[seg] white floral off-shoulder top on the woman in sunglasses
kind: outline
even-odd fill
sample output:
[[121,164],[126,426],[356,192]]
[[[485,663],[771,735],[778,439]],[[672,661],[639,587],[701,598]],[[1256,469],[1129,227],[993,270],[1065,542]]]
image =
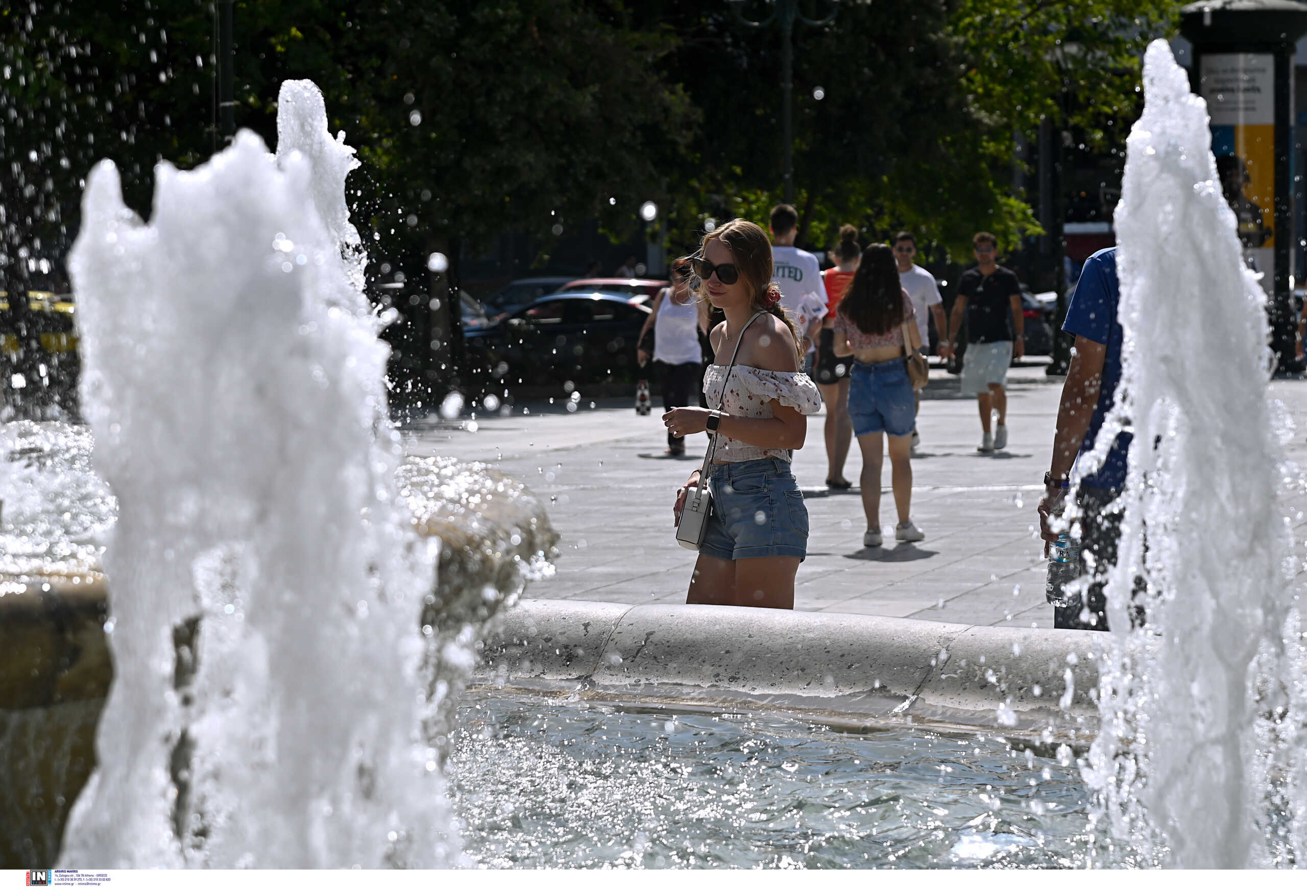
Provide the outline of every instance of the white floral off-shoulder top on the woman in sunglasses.
[[[771,401],[792,406],[805,415],[821,409],[821,392],[806,372],[780,372],[736,364],[731,370],[731,381],[723,398],[721,384],[727,379],[727,370],[728,367],[720,363],[710,363],[703,374],[703,396],[714,409],[720,400],[721,411],[750,419],[770,419],[775,415]],[[789,461],[788,449],[763,449],[725,435],[720,436],[718,449],[712,455],[714,462],[746,462],[752,459]]]

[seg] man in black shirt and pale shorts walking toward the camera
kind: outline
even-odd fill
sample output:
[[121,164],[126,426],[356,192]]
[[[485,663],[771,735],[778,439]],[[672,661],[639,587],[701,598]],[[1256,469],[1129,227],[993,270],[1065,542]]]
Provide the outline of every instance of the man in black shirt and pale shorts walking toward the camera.
[[[997,263],[999,239],[988,231],[971,238],[976,266],[962,273],[949,323],[949,350],[954,347],[962,316],[967,319],[967,351],[962,359],[962,393],[975,395],[983,432],[978,451],[992,453],[1008,445],[1008,366],[1012,355],[1026,354],[1021,281]],[[991,413],[999,425],[991,430]]]

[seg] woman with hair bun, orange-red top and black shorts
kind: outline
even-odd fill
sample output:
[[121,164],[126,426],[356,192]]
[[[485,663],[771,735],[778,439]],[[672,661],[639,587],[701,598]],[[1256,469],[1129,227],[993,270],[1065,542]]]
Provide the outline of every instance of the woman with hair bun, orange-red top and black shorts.
[[826,486],[831,490],[847,490],[853,486],[844,478],[844,461],[848,459],[848,445],[853,440],[853,421],[848,418],[848,371],[853,366],[851,357],[835,357],[835,311],[839,300],[853,280],[861,257],[857,247],[857,229],[844,225],[839,229],[839,246],[830,252],[834,268],[821,273],[826,283],[826,316],[822,317],[821,338],[817,345],[817,363],[813,364],[813,378],[817,389],[826,404]]

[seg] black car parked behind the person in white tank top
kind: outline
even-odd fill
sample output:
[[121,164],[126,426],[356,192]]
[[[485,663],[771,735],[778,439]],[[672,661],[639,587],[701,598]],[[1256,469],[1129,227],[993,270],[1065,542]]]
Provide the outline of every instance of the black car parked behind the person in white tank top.
[[625,293],[546,295],[484,329],[469,355],[505,384],[634,379],[635,341],[650,310]]

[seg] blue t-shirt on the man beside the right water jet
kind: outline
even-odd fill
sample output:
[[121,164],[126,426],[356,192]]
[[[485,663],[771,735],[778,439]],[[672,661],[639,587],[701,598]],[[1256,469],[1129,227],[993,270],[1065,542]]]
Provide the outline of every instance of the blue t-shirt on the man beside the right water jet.
[[[1063,329],[1074,336],[1107,346],[1103,355],[1103,383],[1098,389],[1098,404],[1094,405],[1094,418],[1089,422],[1081,455],[1094,448],[1103,417],[1112,409],[1112,397],[1121,380],[1121,325],[1116,320],[1116,302],[1121,291],[1116,282],[1116,247],[1099,250],[1085,261],[1085,268],[1076,282],[1076,291],[1067,306],[1067,320]],[[1125,455],[1131,447],[1131,434],[1123,431],[1112,443],[1112,449],[1103,465],[1084,478],[1085,486],[1099,490],[1120,490],[1125,486]]]

